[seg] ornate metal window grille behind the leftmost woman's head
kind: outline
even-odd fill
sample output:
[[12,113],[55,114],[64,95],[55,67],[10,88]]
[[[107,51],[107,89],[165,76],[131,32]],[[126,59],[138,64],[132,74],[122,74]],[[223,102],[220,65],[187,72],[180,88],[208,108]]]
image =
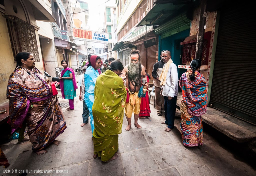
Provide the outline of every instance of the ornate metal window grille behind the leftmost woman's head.
[[14,60],[19,52],[30,52],[35,61],[40,62],[35,27],[16,16],[6,15],[5,18]]

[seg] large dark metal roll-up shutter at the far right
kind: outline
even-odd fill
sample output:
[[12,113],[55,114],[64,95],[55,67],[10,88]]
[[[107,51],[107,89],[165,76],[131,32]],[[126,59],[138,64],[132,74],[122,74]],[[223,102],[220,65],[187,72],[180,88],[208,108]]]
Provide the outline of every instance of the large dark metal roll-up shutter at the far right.
[[210,103],[256,125],[256,18],[241,4],[221,9]]

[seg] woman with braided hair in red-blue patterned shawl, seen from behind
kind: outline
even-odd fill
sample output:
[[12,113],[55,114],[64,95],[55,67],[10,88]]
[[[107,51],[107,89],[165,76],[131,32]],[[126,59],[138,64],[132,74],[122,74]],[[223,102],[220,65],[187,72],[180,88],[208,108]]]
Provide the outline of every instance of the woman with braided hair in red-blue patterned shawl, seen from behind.
[[203,126],[201,115],[207,111],[206,81],[199,73],[201,61],[194,59],[190,63],[191,70],[180,77],[179,86],[182,89],[181,130],[182,142],[185,146],[203,145]]

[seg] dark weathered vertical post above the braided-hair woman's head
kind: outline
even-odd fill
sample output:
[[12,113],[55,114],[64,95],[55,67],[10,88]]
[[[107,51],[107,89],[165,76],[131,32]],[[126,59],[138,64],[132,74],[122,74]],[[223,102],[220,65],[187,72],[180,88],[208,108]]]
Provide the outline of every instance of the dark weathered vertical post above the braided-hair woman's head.
[[195,59],[200,59],[200,60],[202,56],[203,40],[204,40],[204,34],[205,34],[204,26],[206,21],[206,5],[207,5],[207,0],[201,0],[198,33],[197,33],[197,41],[196,41],[196,56],[195,56]]

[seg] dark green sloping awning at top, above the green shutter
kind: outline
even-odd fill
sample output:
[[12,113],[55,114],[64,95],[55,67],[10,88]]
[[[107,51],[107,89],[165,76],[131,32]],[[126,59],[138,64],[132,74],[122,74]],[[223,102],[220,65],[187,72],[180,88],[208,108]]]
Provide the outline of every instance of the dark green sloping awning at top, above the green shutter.
[[152,26],[164,24],[169,19],[193,8],[195,0],[157,0],[152,9],[137,26]]

